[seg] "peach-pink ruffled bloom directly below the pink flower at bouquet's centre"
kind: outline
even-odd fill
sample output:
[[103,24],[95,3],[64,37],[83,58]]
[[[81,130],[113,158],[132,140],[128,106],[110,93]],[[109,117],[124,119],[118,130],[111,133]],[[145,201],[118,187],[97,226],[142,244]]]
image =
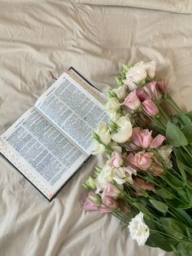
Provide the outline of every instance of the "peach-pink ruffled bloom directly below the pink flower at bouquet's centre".
[[135,155],[133,153],[129,154],[127,160],[133,165],[137,166],[141,170],[147,170],[151,167],[151,157],[153,157],[153,153],[151,152],[137,152]]

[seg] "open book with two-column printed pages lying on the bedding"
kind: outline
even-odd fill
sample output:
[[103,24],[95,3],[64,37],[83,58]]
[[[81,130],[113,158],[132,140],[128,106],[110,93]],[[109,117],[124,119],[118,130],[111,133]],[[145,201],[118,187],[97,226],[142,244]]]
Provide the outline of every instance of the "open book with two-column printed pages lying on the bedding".
[[70,68],[1,135],[0,152],[51,201],[90,156],[98,121],[102,94]]

